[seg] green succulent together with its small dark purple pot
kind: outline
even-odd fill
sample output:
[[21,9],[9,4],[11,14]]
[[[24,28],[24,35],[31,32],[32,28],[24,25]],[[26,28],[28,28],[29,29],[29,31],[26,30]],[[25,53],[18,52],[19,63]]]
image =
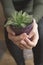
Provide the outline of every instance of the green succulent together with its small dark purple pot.
[[26,12],[15,11],[10,18],[8,18],[4,27],[10,26],[16,35],[21,33],[29,34],[32,30],[32,15],[28,15]]

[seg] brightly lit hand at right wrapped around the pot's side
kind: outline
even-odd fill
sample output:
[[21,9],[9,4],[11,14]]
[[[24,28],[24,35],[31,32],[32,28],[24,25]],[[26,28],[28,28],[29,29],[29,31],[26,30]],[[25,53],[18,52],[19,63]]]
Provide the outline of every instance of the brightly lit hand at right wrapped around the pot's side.
[[[32,38],[32,40],[30,40],[29,38]],[[33,29],[30,32],[29,37],[25,38],[25,40],[22,40],[21,43],[24,45],[26,49],[31,49],[37,45],[38,40],[39,40],[38,24],[36,23],[36,20],[33,19]]]

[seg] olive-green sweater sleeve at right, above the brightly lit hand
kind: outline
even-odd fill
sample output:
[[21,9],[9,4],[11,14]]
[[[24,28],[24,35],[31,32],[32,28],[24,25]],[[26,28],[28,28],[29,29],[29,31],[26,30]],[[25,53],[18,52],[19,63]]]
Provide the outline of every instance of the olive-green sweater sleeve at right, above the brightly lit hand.
[[37,22],[43,17],[43,0],[34,0],[33,17]]

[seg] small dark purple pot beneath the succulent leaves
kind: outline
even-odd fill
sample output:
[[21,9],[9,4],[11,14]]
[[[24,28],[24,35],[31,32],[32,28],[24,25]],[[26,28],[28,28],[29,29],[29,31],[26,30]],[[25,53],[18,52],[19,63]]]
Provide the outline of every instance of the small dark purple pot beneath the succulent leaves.
[[32,23],[31,23],[30,25],[26,26],[25,28],[18,28],[18,27],[14,27],[14,26],[12,26],[12,25],[11,25],[10,27],[11,27],[11,29],[15,32],[16,35],[20,35],[20,34],[22,34],[22,33],[27,33],[27,34],[29,34],[30,31],[31,31],[32,28],[33,28],[33,25],[32,25]]

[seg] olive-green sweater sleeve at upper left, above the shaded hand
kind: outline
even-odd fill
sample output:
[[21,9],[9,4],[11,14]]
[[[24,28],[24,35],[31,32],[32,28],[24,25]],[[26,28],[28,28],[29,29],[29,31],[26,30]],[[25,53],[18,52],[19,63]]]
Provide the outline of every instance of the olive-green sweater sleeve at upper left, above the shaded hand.
[[2,0],[2,4],[5,11],[5,16],[9,17],[15,11],[12,0]]

